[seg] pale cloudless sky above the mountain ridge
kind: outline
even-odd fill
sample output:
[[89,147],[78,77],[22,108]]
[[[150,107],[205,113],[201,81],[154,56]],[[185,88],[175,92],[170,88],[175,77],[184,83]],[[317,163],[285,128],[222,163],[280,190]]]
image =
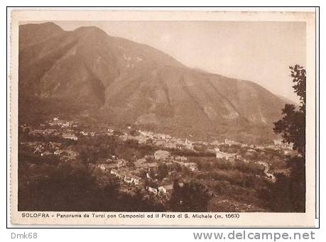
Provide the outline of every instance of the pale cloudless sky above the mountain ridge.
[[218,21],[55,22],[66,31],[97,26],[163,50],[189,67],[251,80],[292,101],[289,65],[305,67],[305,23]]

